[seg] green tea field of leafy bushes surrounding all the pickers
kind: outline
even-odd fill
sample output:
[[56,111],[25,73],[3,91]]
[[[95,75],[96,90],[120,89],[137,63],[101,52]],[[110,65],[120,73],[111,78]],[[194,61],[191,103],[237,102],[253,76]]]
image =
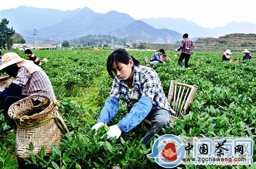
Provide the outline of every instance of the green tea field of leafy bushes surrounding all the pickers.
[[[6,51],[3,51],[4,54]],[[24,51],[14,51],[28,59]],[[106,60],[110,50],[35,50],[43,62],[42,69],[49,76],[56,98],[60,100],[59,112],[70,133],[61,141],[61,148],[53,146],[52,155],[43,153],[32,158],[40,168],[48,169],[112,169],[119,164],[123,169],[158,169],[154,159],[147,157],[151,149],[141,144],[147,129],[140,126],[119,139],[101,139],[104,128],[94,136],[91,127],[108,98],[112,79],[107,73]],[[145,65],[144,56],[154,51],[129,50]],[[194,52],[189,60],[191,70],[181,68],[174,51],[166,51],[171,61],[157,64],[158,73],[167,96],[171,80],[197,85],[190,111],[174,124],[163,129],[163,134],[188,137],[250,137],[254,141],[254,165],[180,165],[182,169],[249,169],[256,168],[256,60],[238,64],[222,63],[219,52]],[[252,56],[256,54],[252,53]],[[242,58],[243,53],[231,57]],[[199,64],[196,62],[200,60]],[[108,124],[115,125],[126,114],[121,100],[117,116]],[[7,128],[0,116],[0,130]],[[17,169],[15,132],[0,137],[0,168]],[[154,142],[152,141],[152,144]],[[31,147],[33,148],[33,147]]]

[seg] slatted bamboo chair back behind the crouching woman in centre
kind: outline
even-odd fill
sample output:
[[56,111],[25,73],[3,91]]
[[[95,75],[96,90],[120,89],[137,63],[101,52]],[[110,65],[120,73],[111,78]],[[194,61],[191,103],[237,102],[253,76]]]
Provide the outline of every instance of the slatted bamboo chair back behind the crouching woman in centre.
[[[170,115],[170,118],[175,121],[175,119],[184,116],[189,112],[189,107],[191,106],[195,93],[197,91],[198,86],[196,85],[188,85],[184,83],[179,83],[175,80],[170,82],[170,88],[168,93],[168,103],[171,108],[175,111],[175,115]],[[144,119],[142,123],[146,123],[151,125],[151,121],[148,119]],[[171,123],[171,121],[170,121]],[[141,126],[145,124],[141,124]]]

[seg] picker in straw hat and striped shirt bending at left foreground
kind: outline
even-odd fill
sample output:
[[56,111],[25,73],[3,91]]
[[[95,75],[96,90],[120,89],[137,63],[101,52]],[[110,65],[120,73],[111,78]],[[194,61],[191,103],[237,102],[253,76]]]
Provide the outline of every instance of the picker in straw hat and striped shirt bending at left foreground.
[[[16,128],[15,122],[7,115],[9,107],[16,101],[34,94],[45,94],[56,100],[52,84],[46,73],[33,63],[21,58],[14,52],[8,52],[2,57],[0,70],[16,78],[8,88],[0,92],[1,113],[4,114],[10,131]],[[34,98],[33,104],[38,105],[42,98]]]

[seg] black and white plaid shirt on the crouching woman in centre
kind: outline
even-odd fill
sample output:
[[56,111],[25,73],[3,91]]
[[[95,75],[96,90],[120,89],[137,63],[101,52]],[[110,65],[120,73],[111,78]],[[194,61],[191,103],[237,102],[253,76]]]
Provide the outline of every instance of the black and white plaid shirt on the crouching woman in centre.
[[[165,109],[171,112],[168,100],[163,92],[161,81],[154,69],[146,66],[134,66],[133,86],[136,88],[138,100],[141,96],[149,97],[152,100],[152,109]],[[127,103],[128,112],[132,108],[132,102],[128,96],[127,81],[115,76],[110,97],[120,98],[123,95]]]

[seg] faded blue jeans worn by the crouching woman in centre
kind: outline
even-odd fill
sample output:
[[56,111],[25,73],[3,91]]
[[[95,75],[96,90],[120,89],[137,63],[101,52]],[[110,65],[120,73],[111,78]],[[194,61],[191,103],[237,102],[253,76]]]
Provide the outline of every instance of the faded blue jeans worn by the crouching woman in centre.
[[162,128],[169,125],[169,112],[164,109],[152,109],[146,119],[151,120],[152,125],[145,134],[142,143],[149,148],[151,140],[155,138],[155,134],[161,133]]

